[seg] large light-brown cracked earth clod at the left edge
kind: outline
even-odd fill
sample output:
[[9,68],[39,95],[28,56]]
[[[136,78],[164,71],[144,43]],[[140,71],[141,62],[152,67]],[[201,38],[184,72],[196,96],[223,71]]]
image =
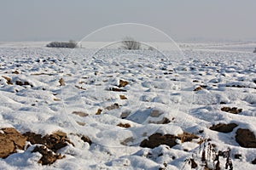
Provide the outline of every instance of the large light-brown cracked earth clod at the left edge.
[[16,152],[16,150],[24,150],[26,137],[15,130],[15,128],[2,128],[0,133],[0,158]]

